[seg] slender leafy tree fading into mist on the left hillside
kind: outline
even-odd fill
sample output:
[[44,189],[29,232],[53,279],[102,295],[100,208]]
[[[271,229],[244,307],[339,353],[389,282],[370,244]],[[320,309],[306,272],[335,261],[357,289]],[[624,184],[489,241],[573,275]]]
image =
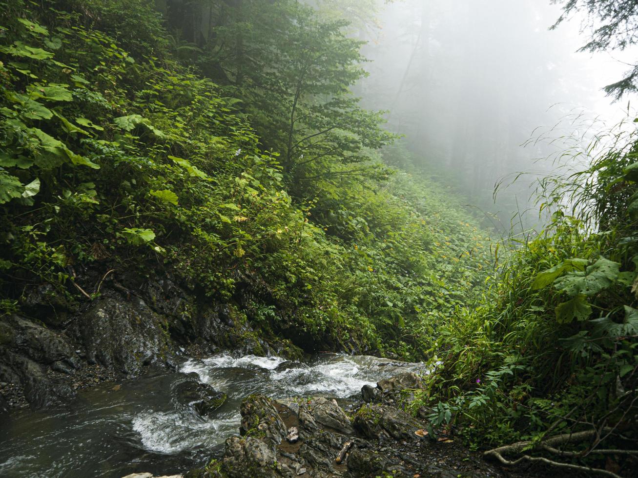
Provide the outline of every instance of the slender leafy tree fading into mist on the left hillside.
[[210,4],[215,20],[198,66],[241,99],[263,147],[281,154],[293,194],[316,180],[373,174],[371,150],[392,135],[350,91],[366,72],[348,22],[292,0]]

